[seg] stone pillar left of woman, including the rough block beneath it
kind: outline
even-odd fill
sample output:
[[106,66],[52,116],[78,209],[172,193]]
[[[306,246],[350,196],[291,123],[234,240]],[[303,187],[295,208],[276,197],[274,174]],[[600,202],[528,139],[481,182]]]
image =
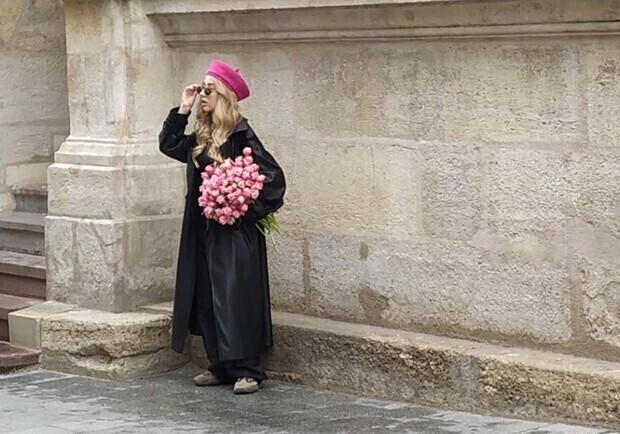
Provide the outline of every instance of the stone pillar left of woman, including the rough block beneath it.
[[47,295],[72,308],[43,321],[43,363],[165,370],[184,359],[167,349],[169,315],[145,306],[172,299],[184,197],[183,166],[157,144],[170,55],[140,1],[64,7],[71,133],[48,172]]

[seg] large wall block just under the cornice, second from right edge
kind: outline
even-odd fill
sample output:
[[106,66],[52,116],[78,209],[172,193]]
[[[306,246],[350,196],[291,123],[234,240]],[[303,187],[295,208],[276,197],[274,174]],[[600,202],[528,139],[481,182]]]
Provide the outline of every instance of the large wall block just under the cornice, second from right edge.
[[443,140],[557,146],[583,141],[576,46],[521,39],[434,48],[434,89],[440,92],[433,111],[443,123]]

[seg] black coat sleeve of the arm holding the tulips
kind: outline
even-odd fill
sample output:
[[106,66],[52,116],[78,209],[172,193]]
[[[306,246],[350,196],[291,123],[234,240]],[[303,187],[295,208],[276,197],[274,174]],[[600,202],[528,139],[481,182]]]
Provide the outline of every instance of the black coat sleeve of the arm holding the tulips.
[[250,206],[245,215],[245,220],[256,222],[277,211],[284,204],[286,180],[282,168],[251,129],[248,130],[247,138],[247,146],[252,148],[254,162],[258,164],[260,173],[265,175],[265,182],[263,183],[263,190],[260,196]]

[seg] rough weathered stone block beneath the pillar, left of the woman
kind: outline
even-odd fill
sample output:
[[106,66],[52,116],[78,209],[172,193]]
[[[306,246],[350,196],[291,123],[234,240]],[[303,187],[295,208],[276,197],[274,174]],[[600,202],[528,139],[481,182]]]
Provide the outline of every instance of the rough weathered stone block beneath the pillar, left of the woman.
[[189,361],[189,349],[170,349],[170,321],[167,314],[87,309],[48,316],[41,324],[41,366],[107,379],[178,369]]

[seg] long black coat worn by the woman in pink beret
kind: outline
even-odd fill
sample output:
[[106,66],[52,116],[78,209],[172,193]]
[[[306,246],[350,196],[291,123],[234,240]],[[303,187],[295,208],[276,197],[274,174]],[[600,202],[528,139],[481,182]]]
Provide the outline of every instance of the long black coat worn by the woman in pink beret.
[[[183,229],[179,249],[174,312],[172,319],[172,349],[183,352],[190,324],[192,302],[196,285],[198,254],[197,231],[204,230],[202,208],[198,206],[200,170],[192,161],[196,135],[185,135],[188,115],[170,111],[159,134],[159,149],[175,160],[187,163],[187,195],[183,215]],[[240,222],[223,226],[206,221],[205,255],[213,294],[213,313],[217,330],[219,360],[255,358],[271,346],[271,309],[265,237],[256,222],[276,211],[283,204],[286,189],[284,174],[275,159],[265,150],[245,118],[242,118],[222,144],[225,157],[242,154],[252,148],[254,162],[265,175],[263,190]],[[204,263],[204,262],[203,262]]]

